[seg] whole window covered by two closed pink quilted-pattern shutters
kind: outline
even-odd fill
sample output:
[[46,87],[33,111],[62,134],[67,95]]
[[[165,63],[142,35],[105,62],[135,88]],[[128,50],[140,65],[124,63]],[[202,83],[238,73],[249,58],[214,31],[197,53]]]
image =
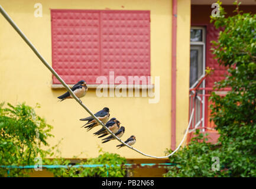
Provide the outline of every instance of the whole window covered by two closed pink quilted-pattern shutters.
[[53,69],[68,84],[150,76],[150,11],[52,9],[51,35]]

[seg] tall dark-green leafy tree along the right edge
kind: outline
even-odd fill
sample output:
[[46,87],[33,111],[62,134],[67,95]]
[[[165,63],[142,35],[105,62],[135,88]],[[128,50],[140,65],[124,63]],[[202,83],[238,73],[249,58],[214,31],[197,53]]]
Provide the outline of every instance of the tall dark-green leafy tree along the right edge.
[[213,19],[215,27],[225,27],[213,43],[213,54],[228,67],[226,79],[216,83],[216,89],[232,90],[225,97],[212,94],[212,120],[226,152],[222,161],[232,170],[232,176],[255,177],[256,15],[242,14],[239,5],[235,11],[234,17]]

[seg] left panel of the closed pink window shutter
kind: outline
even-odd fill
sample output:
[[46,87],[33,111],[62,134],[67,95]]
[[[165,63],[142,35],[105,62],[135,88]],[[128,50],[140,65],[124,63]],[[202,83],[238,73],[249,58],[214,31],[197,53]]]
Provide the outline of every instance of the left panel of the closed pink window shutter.
[[[99,75],[99,12],[51,10],[53,69],[66,83]],[[53,83],[60,83],[53,77]]]

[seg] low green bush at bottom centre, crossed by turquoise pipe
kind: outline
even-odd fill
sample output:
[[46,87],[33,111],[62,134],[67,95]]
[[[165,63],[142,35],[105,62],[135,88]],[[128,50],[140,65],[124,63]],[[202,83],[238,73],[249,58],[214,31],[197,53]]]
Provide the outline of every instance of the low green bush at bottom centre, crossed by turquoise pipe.
[[[86,161],[80,159],[79,163],[71,164],[71,161],[63,158],[55,158],[53,160],[48,159],[47,164],[52,165],[103,165],[102,167],[79,167],[79,168],[57,168],[49,169],[53,172],[54,177],[124,177],[125,168],[122,166],[126,163],[126,159],[120,157],[118,154],[110,154],[109,152],[103,152],[96,158],[89,158]],[[107,167],[106,165],[109,165]],[[121,166],[118,166],[121,165]]]

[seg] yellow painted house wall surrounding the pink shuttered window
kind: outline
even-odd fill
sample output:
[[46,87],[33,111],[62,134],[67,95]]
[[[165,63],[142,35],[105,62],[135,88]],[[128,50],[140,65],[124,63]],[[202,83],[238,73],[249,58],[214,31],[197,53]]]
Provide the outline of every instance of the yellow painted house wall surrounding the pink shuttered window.
[[[160,76],[160,101],[148,103],[148,97],[96,97],[95,90],[89,90],[82,98],[92,112],[108,106],[125,126],[122,139],[136,136],[135,148],[151,155],[162,156],[171,145],[171,0],[95,0],[95,1],[40,1],[43,18],[34,17],[34,4],[38,1],[4,1],[0,4],[16,22],[18,27],[34,44],[41,55],[51,64],[50,9],[126,9],[151,11],[151,76]],[[178,2],[177,38],[177,145],[183,137],[188,122],[189,100],[189,27],[190,1]],[[124,6],[124,8],[122,7]],[[34,106],[38,115],[54,126],[55,138],[51,145],[61,138],[60,149],[64,158],[72,158],[85,152],[81,158],[97,157],[98,145],[103,151],[118,153],[126,158],[144,158],[128,148],[117,150],[117,141],[101,144],[101,140],[80,128],[80,118],[88,113],[74,100],[57,102],[57,96],[65,90],[51,89],[51,73],[35,56],[11,25],[0,16],[0,101],[17,104],[26,102]],[[81,78],[82,79],[82,78]]]

